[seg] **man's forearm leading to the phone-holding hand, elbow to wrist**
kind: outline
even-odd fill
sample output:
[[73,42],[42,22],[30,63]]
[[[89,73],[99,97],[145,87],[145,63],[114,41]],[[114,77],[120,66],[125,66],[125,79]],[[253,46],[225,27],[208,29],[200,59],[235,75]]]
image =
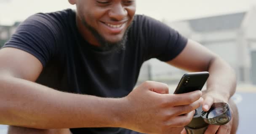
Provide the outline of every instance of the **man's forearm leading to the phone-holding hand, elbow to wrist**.
[[0,78],[0,124],[37,129],[119,127],[120,99],[64,93]]

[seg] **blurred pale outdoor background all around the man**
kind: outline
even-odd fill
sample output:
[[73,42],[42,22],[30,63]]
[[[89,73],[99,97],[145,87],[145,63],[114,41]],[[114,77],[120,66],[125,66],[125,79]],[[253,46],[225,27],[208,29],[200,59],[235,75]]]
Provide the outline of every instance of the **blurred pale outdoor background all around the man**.
[[[28,16],[66,8],[75,6],[68,0],[0,0],[0,47]],[[256,119],[256,0],[137,0],[136,13],[156,18],[200,42],[235,69],[237,93],[233,100],[240,112],[237,134],[251,133]],[[138,84],[165,82],[173,93],[184,73],[150,59],[141,68]],[[6,134],[6,126],[0,125],[0,134]]]

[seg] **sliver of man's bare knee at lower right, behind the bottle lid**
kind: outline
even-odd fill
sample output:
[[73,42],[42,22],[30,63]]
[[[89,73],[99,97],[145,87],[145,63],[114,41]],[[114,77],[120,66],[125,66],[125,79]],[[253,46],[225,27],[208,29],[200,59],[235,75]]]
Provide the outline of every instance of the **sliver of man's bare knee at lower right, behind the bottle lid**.
[[236,106],[235,102],[232,99],[229,100],[229,106],[233,111],[233,114],[232,114],[233,123],[232,123],[231,134],[236,134],[237,127],[238,127],[238,124],[239,124],[238,109],[237,109],[237,106]]

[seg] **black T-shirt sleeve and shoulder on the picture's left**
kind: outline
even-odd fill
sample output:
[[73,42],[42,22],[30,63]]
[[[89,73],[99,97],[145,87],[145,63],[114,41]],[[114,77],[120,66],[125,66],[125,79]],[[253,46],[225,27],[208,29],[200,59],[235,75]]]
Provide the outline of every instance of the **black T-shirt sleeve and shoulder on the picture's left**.
[[[75,14],[75,13],[73,13]],[[24,50],[39,59],[43,66],[59,53],[68,31],[72,10],[37,13],[23,21],[3,47]],[[74,22],[74,20],[72,21]]]

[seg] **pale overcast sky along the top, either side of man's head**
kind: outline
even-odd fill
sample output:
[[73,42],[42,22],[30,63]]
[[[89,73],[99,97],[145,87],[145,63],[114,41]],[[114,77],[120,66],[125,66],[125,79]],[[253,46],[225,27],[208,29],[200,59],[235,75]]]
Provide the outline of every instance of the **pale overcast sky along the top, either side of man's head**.
[[[249,10],[256,0],[136,0],[137,14],[180,21]],[[0,25],[12,25],[38,12],[75,9],[68,0],[0,0]]]

